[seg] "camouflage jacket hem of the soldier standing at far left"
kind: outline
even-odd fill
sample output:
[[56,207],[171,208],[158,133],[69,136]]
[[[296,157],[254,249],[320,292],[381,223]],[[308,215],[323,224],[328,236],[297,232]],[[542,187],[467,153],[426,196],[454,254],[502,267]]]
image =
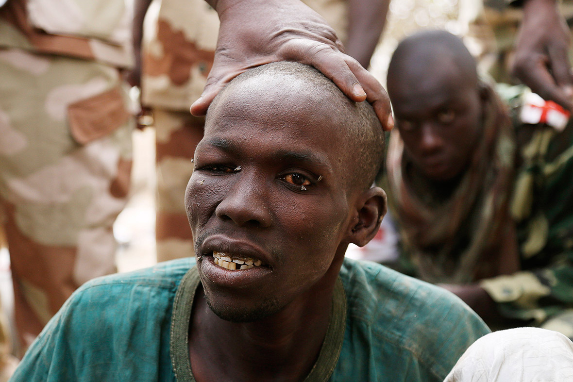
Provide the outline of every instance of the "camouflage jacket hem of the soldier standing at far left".
[[9,0],[0,8],[0,49],[133,64],[127,0]]

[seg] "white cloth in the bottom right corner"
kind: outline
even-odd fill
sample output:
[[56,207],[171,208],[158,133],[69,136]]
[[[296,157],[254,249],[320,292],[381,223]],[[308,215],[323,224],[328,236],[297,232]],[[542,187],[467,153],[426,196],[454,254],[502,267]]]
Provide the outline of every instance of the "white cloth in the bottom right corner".
[[573,342],[561,333],[517,328],[474,342],[444,382],[573,381]]

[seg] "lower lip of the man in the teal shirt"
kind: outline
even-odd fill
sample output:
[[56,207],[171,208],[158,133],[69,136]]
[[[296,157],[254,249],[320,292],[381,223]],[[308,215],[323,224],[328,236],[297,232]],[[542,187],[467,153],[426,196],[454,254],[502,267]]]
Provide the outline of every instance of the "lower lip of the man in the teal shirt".
[[255,266],[249,269],[229,270],[216,265],[213,256],[203,256],[200,265],[208,281],[229,288],[244,288],[269,275],[272,271],[266,266]]

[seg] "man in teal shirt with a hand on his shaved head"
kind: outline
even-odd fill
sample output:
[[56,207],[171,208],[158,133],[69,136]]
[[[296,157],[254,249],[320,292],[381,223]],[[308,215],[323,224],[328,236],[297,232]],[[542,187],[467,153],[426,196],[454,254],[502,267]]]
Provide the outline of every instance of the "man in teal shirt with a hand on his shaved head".
[[484,323],[443,289],[344,258],[386,212],[371,186],[383,144],[372,107],[310,66],[241,74],[189,164],[195,257],[87,283],[15,380],[442,381]]

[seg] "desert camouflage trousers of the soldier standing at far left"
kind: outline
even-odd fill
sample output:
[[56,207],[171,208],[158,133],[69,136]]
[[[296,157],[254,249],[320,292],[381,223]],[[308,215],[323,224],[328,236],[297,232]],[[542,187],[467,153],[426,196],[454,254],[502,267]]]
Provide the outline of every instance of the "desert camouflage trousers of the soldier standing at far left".
[[88,279],[115,271],[133,121],[115,68],[0,50],[0,206],[23,348]]

